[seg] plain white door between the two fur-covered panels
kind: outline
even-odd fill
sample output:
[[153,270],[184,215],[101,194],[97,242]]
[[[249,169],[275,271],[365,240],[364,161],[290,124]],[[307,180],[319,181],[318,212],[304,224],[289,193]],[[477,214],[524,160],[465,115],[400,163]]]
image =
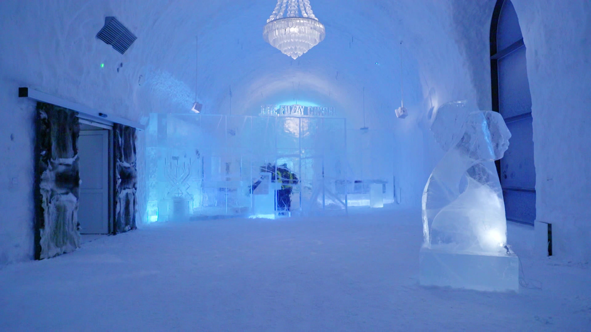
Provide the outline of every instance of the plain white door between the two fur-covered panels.
[[80,131],[80,234],[109,233],[109,131]]

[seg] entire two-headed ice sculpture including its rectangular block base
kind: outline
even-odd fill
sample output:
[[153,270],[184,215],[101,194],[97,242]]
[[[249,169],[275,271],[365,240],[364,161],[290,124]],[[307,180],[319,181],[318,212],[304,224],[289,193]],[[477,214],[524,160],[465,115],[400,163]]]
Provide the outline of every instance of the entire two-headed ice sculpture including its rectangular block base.
[[506,245],[505,204],[493,162],[511,133],[497,112],[441,105],[431,131],[447,151],[423,191],[420,282],[486,291],[518,290],[518,261]]

